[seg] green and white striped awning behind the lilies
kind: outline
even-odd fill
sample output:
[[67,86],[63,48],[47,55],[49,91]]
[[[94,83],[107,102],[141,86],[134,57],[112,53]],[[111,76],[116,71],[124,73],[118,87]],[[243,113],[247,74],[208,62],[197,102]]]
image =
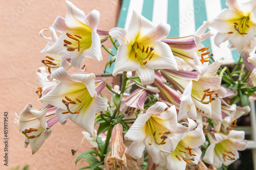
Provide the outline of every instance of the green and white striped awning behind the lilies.
[[[135,10],[156,25],[168,23],[171,29],[167,38],[184,37],[193,35],[203,21],[214,19],[222,9],[228,8],[225,4],[226,0],[123,0],[117,27],[127,29]],[[214,59],[223,64],[239,60],[237,50],[231,51],[227,41],[218,47],[214,44],[214,37],[210,37],[203,44],[210,46]],[[116,54],[115,48],[112,50]],[[112,72],[113,68],[114,65],[106,71]]]

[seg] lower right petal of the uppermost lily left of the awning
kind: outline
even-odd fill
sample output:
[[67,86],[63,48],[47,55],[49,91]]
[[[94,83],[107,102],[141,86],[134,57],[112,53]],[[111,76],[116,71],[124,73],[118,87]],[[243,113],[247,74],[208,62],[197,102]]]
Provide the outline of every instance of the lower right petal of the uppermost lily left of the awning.
[[84,50],[82,55],[83,57],[96,59],[98,61],[102,60],[100,37],[95,31],[92,31],[91,47],[88,50]]

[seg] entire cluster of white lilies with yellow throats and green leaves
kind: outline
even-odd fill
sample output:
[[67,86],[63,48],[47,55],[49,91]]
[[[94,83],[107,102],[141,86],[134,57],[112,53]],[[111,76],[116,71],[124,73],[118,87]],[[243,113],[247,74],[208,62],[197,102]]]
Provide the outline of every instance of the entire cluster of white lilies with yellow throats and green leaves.
[[[93,143],[77,158],[89,164],[83,168],[140,169],[144,161],[147,169],[190,169],[202,161],[220,168],[239,159],[247,141],[243,131],[236,131],[237,122],[256,99],[256,56],[249,55],[256,33],[255,1],[227,0],[229,9],[203,22],[194,35],[179,38],[166,38],[167,23],[154,25],[136,11],[127,30],[98,29],[98,11],[86,15],[66,4],[66,18],[58,16],[49,27],[51,37],[44,35],[47,29],[39,32],[47,40],[41,62],[48,72],[45,67],[36,71],[43,106],[37,110],[29,103],[15,119],[32,154],[50,136],[51,126],[70,119]],[[229,40],[242,51],[233,69],[214,61],[201,43],[214,35],[206,32],[208,26],[218,31],[216,45]],[[108,39],[116,55],[103,45]],[[122,72],[121,87],[84,72],[86,57],[102,60],[101,47],[113,56],[105,68],[114,63],[112,75]],[[71,67],[80,72],[69,73]],[[111,99],[104,98],[104,88]]]

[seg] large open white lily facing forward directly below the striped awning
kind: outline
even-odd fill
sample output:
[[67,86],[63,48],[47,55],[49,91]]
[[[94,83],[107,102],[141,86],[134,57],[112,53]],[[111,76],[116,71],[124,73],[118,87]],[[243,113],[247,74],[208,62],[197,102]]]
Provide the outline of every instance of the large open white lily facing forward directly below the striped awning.
[[119,71],[137,71],[142,84],[154,82],[154,69],[176,69],[177,63],[169,46],[161,42],[170,31],[170,26],[160,23],[158,26],[133,11],[129,27],[126,30],[113,28],[110,35],[120,43],[113,76]]

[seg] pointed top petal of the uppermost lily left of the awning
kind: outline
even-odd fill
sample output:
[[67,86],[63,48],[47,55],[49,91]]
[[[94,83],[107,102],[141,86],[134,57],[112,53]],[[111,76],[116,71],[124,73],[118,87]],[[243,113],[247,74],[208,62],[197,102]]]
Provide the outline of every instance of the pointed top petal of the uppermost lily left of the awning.
[[[84,24],[89,26],[86,14],[71,2],[66,1],[67,15],[65,19],[66,26],[71,29],[83,30]],[[95,30],[96,31],[96,30]]]

